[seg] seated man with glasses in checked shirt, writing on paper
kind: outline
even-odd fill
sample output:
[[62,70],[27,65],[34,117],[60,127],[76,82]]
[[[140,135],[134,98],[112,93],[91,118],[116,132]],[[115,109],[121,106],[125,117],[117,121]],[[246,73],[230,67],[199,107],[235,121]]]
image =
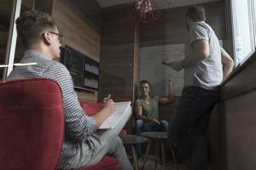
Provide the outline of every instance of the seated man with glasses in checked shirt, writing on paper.
[[102,160],[105,154],[116,157],[121,169],[132,169],[119,131],[130,115],[125,115],[113,129],[96,131],[114,111],[112,99],[103,103],[102,111],[86,116],[73,89],[73,80],[67,68],[55,61],[60,59],[62,36],[49,14],[27,11],[16,20],[18,37],[26,48],[20,63],[37,63],[15,67],[9,79],[49,78],[58,82],[63,96],[65,139],[59,168],[73,169],[90,166]]

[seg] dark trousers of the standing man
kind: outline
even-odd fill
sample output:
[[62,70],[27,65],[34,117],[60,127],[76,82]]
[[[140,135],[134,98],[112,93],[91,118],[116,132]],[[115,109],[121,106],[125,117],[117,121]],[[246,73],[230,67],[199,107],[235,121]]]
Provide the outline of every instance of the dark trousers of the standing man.
[[207,170],[209,116],[218,92],[191,86],[183,90],[168,129],[168,141],[189,160],[191,170]]

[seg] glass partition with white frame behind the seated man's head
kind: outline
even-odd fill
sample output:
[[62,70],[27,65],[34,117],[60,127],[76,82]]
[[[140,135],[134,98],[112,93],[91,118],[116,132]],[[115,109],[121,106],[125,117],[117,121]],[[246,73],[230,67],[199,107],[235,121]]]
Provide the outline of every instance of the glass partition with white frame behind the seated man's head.
[[14,63],[20,62],[24,48],[17,40],[15,20],[33,8],[34,0],[1,0],[0,5],[0,80],[8,77]]

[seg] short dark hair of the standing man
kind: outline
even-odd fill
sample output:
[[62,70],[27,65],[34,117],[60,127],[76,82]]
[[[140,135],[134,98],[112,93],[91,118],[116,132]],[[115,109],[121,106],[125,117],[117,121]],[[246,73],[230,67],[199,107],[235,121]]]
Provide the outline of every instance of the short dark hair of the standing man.
[[194,22],[206,20],[205,8],[201,5],[193,5],[189,7],[186,12],[186,18],[189,18]]

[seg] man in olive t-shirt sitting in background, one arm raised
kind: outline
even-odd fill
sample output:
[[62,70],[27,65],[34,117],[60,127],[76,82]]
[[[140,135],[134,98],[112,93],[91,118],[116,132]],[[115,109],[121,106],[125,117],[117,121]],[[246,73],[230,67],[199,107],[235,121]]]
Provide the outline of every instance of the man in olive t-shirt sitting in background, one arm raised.
[[[137,116],[135,134],[142,132],[166,132],[169,123],[166,120],[159,120],[158,105],[170,103],[173,100],[172,81],[166,81],[168,92],[166,96],[151,97],[150,83],[146,80],[140,82],[141,96],[136,100],[135,112]],[[142,154],[141,144],[137,144],[137,155]]]

